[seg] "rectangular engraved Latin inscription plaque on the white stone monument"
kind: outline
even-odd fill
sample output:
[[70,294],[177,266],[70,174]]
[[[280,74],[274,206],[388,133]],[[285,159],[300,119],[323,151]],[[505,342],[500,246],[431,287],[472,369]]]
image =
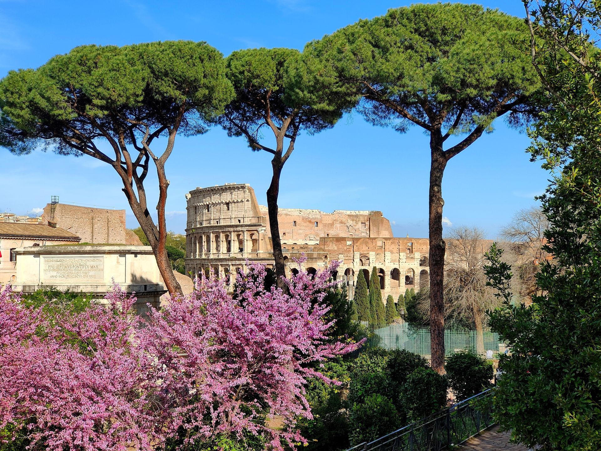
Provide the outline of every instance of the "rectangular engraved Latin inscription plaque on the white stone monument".
[[104,280],[104,257],[102,256],[44,256],[41,263],[41,279],[44,281]]

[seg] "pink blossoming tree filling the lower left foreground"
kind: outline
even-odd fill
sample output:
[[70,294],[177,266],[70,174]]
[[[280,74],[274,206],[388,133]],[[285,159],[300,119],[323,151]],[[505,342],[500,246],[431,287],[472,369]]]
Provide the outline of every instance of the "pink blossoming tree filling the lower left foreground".
[[[334,382],[316,368],[358,346],[326,336],[332,322],[321,301],[336,267],[300,272],[289,293],[265,290],[261,265],[239,274],[234,296],[210,277],[143,325],[130,312],[135,298],[118,286],[108,308],[52,322],[5,289],[0,431],[57,451],[154,450],[169,440],[188,449],[248,435],[270,449],[303,443],[293,425],[311,418],[307,379]],[[274,416],[283,428],[266,426]]]

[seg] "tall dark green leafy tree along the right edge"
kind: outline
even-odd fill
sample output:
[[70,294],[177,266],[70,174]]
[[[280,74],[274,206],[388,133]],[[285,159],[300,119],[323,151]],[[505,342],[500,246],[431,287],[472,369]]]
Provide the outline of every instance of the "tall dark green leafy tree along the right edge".
[[532,127],[529,150],[554,173],[542,197],[553,260],[540,265],[532,305],[512,305],[511,268],[498,247],[489,252],[490,283],[504,300],[490,323],[511,349],[499,362],[495,411],[526,446],[599,449],[601,11],[591,1],[532,6],[532,58],[552,108]]

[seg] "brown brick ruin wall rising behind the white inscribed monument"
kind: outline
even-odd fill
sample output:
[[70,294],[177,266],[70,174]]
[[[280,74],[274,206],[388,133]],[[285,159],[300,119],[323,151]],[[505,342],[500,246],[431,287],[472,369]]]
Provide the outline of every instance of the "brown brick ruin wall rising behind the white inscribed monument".
[[126,228],[125,210],[47,204],[41,222],[69,230],[84,243],[142,245],[138,236]]

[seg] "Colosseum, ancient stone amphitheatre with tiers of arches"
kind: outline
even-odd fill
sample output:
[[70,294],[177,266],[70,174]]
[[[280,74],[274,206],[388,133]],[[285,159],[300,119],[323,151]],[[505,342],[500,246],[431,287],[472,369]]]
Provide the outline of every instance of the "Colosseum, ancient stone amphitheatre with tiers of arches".
[[[246,183],[196,188],[186,194],[186,274],[212,268],[232,287],[246,260],[273,267],[267,207],[257,203]],[[294,258],[305,254],[304,268],[314,273],[330,260],[341,262],[334,275],[353,296],[359,271],[369,282],[376,266],[382,295],[395,298],[408,288],[429,284],[428,239],[394,238],[379,211],[279,209],[279,232],[288,275],[298,271]]]

